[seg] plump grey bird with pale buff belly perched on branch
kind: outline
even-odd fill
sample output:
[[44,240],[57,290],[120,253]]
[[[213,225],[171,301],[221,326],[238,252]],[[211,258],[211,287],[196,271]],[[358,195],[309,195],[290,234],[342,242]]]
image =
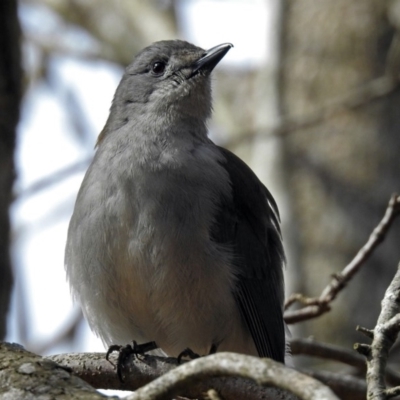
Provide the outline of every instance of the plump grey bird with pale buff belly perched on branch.
[[277,205],[208,138],[210,73],[231,47],[156,42],[116,90],[65,254],[72,292],[107,345],[284,361]]

